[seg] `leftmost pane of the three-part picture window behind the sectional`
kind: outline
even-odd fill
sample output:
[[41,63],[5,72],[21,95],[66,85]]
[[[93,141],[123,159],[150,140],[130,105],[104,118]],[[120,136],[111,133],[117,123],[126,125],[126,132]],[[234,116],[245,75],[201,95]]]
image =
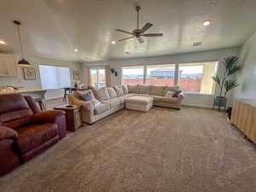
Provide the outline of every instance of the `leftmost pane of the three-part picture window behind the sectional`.
[[143,84],[144,67],[123,67],[123,84]]

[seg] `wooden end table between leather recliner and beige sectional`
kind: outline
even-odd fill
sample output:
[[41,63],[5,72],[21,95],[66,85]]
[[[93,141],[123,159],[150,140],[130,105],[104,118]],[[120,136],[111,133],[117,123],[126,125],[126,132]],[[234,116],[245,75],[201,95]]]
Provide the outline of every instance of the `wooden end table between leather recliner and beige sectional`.
[[68,106],[68,105],[61,105],[56,106],[55,110],[62,110],[66,112],[66,124],[67,124],[67,131],[76,131],[83,125],[82,118],[81,118],[81,107],[77,105]]

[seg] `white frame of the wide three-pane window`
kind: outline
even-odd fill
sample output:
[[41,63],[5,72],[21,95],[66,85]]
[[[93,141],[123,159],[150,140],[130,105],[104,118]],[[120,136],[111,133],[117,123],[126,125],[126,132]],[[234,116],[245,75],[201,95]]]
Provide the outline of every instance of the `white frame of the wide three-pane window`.
[[[185,62],[175,62],[175,63],[150,63],[150,64],[143,64],[143,65],[122,65],[121,66],[121,83],[123,84],[123,67],[143,67],[143,84],[147,84],[147,67],[148,66],[161,66],[161,65],[174,65],[175,67],[175,72],[174,72],[174,78],[173,78],[173,84],[170,84],[170,86],[177,86],[178,82],[178,70],[181,64],[195,64],[196,63],[207,63],[207,62],[216,62],[216,69],[215,69],[215,74],[218,74],[219,72],[219,61],[218,60],[208,60],[208,61],[185,61]],[[205,73],[205,69],[203,69],[203,73]],[[213,81],[212,84],[212,94],[207,94],[207,93],[200,93],[200,92],[190,92],[190,91],[183,91],[186,94],[191,94],[191,95],[206,95],[206,96],[214,96],[216,92],[216,83]]]

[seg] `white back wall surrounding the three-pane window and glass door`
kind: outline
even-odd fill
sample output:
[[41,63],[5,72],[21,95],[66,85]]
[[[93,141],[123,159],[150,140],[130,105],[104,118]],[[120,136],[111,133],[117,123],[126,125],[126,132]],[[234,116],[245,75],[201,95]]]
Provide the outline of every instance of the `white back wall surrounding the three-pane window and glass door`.
[[[84,63],[83,73],[85,74],[88,67],[104,66],[109,65],[110,68],[115,68],[118,71],[118,77],[111,74],[110,83],[111,85],[121,84],[121,69],[123,66],[132,65],[150,65],[150,64],[172,64],[172,63],[187,63],[187,62],[201,62],[201,61],[222,61],[224,57],[228,55],[238,55],[240,48],[230,49],[216,49],[211,51],[203,51],[190,54],[178,54],[178,55],[163,55],[154,57],[145,57],[137,59],[125,59],[125,60],[114,60],[114,61],[98,61]],[[222,73],[223,67],[219,65],[218,73]],[[84,84],[87,84],[88,74],[84,75]],[[229,105],[232,102],[232,94],[230,93]],[[198,106],[205,108],[212,108],[214,96],[212,95],[200,95],[200,94],[185,94],[184,104],[190,106]]]

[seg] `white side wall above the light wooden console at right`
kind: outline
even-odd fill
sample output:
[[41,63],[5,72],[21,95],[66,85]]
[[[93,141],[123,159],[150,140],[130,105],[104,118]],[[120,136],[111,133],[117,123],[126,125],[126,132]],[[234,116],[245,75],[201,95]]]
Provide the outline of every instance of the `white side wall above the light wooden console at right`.
[[240,86],[235,98],[256,99],[256,32],[241,47],[241,73],[237,76]]

